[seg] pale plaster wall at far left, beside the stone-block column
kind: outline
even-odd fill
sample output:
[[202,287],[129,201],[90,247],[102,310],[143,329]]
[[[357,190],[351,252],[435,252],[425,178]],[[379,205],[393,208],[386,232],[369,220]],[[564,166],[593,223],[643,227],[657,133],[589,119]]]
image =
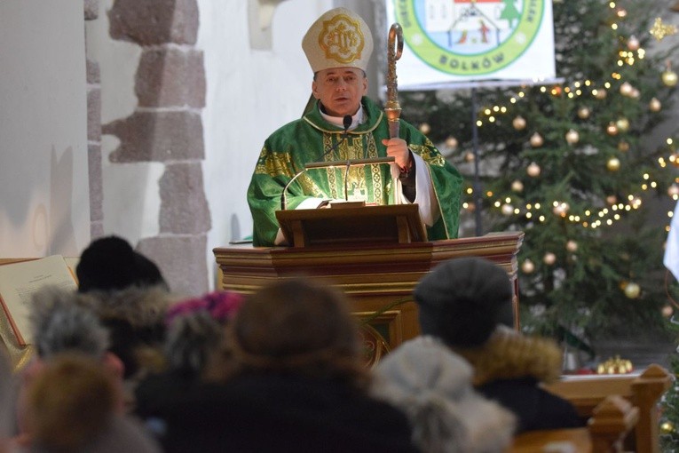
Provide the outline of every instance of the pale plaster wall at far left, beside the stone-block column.
[[0,1],[0,257],[90,242],[83,2]]

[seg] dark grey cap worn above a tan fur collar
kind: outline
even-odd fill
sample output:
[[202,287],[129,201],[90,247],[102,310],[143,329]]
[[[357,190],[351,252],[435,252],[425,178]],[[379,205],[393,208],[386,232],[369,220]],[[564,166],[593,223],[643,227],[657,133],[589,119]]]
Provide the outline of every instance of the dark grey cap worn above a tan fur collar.
[[512,324],[513,294],[508,274],[492,261],[451,259],[436,266],[415,287],[420,329],[449,346],[480,346],[497,324]]

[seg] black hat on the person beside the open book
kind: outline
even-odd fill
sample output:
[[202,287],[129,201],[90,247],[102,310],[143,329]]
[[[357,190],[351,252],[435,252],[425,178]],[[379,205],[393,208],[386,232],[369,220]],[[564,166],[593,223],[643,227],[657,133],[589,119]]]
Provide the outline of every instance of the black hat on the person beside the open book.
[[75,274],[79,292],[124,290],[132,286],[167,286],[158,266],[117,236],[92,241],[83,250]]

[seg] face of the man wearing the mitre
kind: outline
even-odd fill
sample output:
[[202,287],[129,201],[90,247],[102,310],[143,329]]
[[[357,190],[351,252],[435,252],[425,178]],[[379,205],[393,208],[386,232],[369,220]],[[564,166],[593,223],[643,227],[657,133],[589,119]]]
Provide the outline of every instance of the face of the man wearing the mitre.
[[328,115],[354,115],[367,93],[367,77],[358,68],[323,69],[313,79],[312,92]]

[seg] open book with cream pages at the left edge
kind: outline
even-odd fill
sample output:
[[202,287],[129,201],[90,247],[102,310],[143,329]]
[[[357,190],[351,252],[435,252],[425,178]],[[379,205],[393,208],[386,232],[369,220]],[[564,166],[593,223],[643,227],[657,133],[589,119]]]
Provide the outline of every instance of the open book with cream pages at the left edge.
[[0,266],[0,303],[20,346],[32,344],[30,303],[36,290],[46,285],[77,289],[75,274],[61,255]]

